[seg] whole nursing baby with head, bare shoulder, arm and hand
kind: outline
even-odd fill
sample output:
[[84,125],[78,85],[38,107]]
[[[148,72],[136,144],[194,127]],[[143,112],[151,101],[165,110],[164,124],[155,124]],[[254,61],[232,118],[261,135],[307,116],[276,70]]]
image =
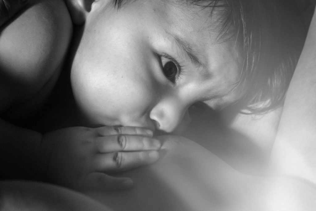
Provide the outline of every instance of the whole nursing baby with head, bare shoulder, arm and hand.
[[[207,105],[203,116],[275,108],[306,33],[299,19],[284,24],[293,14],[289,1],[31,1],[0,37],[2,178],[127,188],[108,173],[157,160],[153,132],[183,131],[192,105]],[[87,127],[14,126],[46,102],[67,53]]]

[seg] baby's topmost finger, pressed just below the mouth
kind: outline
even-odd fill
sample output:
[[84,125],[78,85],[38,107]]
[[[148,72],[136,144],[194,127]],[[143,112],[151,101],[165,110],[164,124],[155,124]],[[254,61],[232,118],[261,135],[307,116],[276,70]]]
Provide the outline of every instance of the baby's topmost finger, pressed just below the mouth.
[[98,127],[96,128],[100,136],[109,135],[143,135],[143,136],[153,136],[153,131],[143,128],[143,127]]

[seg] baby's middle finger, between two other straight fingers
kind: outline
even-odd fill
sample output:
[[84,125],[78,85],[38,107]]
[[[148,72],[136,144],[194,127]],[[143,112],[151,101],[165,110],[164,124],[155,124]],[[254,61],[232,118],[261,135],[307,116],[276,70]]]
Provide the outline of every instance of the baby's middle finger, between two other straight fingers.
[[159,150],[161,147],[157,139],[133,135],[100,136],[96,138],[95,144],[100,153]]

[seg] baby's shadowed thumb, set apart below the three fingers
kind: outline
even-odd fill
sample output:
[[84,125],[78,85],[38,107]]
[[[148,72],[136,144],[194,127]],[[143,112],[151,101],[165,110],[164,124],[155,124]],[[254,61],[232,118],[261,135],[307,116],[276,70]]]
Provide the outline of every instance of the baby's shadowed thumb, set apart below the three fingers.
[[132,186],[133,181],[130,178],[112,177],[101,172],[89,173],[83,182],[85,190],[121,190]]

